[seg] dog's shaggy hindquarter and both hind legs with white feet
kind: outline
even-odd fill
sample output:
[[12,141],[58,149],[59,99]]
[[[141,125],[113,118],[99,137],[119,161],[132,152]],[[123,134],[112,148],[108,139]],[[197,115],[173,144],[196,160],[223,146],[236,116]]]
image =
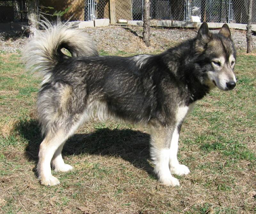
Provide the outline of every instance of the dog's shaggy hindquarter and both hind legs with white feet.
[[37,111],[45,139],[40,145],[37,165],[38,177],[46,186],[59,184],[52,176],[51,164],[56,171],[68,171],[61,151],[66,140],[84,122],[84,99],[74,94],[66,83],[56,82],[39,92]]

